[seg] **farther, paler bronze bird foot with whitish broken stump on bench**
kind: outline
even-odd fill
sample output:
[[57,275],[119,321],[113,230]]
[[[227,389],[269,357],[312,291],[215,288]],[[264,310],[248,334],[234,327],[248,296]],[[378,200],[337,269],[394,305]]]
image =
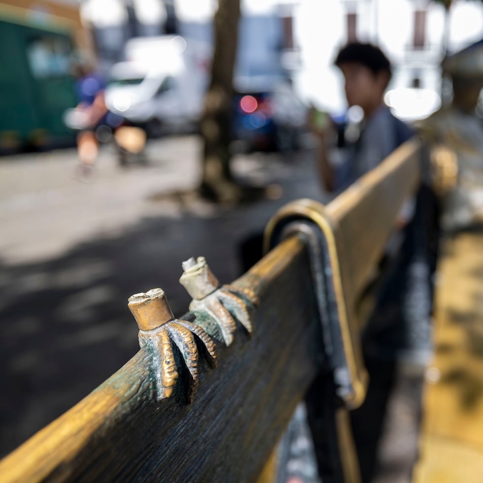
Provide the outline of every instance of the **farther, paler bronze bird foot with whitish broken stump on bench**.
[[208,267],[205,257],[190,258],[182,264],[179,282],[192,297],[189,306],[197,320],[206,317],[219,328],[225,345],[233,342],[237,320],[246,331],[253,331],[250,311],[257,305],[255,292],[233,285],[222,285]]

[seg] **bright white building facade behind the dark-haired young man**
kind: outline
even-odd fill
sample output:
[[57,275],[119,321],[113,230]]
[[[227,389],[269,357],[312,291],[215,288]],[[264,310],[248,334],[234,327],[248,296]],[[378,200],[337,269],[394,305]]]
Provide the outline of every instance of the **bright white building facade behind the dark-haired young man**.
[[[300,0],[295,35],[302,67],[296,74],[301,95],[321,108],[345,108],[343,80],[333,60],[348,38],[378,43],[394,67],[390,88],[441,92],[444,7],[427,0]],[[449,52],[483,36],[483,4],[454,0],[449,14]],[[420,100],[420,102],[424,102]]]

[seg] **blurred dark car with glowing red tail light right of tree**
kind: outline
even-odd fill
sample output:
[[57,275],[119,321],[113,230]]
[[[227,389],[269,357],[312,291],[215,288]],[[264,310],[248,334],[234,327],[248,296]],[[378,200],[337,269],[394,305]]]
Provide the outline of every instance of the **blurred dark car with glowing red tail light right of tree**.
[[233,140],[247,151],[293,151],[307,121],[307,106],[291,85],[240,86],[234,99]]

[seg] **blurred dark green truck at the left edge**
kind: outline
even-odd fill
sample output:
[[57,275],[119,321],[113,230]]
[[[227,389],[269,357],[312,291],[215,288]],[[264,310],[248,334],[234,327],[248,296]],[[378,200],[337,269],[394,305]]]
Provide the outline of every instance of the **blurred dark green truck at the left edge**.
[[69,31],[0,15],[0,153],[72,145],[77,104]]

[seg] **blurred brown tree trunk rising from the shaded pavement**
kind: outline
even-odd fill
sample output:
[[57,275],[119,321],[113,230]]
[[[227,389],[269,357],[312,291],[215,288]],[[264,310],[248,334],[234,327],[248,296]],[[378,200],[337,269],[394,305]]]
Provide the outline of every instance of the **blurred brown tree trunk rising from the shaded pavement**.
[[236,202],[241,190],[230,170],[233,70],[238,44],[240,0],[219,0],[214,17],[211,83],[201,121],[204,138],[201,192],[219,202]]

